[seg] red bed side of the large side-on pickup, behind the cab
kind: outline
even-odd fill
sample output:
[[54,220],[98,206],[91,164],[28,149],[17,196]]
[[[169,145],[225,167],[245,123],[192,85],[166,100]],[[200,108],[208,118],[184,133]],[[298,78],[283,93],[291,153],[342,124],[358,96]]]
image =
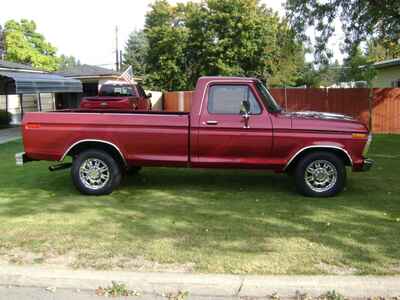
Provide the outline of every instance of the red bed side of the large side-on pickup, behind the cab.
[[189,161],[189,114],[82,109],[27,113],[23,138],[32,159],[58,161],[76,143],[106,141],[130,164],[181,166]]

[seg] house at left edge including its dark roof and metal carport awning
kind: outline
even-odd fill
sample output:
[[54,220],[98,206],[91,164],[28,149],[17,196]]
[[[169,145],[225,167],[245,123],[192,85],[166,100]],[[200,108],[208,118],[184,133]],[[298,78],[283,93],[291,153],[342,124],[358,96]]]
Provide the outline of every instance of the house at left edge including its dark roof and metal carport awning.
[[0,60],[0,109],[11,113],[12,124],[25,112],[54,110],[58,95],[81,92],[78,80]]

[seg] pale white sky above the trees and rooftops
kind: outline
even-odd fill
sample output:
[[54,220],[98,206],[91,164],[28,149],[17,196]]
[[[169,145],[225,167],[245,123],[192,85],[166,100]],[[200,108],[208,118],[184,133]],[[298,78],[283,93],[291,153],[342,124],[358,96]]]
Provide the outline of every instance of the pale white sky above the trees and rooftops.
[[[262,0],[280,15],[284,15],[284,1]],[[82,63],[111,68],[115,61],[115,27],[119,28],[119,47],[123,49],[129,33],[143,28],[145,14],[152,2],[153,0],[4,1],[0,8],[0,24],[4,25],[10,19],[34,20],[37,31],[57,47],[59,55],[73,55]],[[332,42],[331,48],[334,49],[335,57],[341,61],[339,42]]]

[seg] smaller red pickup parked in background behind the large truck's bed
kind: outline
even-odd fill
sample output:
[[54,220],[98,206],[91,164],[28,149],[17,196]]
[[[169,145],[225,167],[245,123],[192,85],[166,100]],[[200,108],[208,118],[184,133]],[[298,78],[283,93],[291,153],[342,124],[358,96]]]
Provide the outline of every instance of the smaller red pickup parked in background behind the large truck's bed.
[[83,109],[151,110],[151,94],[140,85],[128,83],[103,84],[97,97],[82,98]]

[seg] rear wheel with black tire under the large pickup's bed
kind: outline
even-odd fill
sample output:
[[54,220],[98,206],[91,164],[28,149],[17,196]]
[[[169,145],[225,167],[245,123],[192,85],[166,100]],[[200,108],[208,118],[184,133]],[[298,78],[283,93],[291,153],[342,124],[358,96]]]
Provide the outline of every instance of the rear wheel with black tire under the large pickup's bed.
[[108,195],[121,182],[121,169],[115,159],[102,150],[86,150],[73,161],[75,187],[86,195]]

